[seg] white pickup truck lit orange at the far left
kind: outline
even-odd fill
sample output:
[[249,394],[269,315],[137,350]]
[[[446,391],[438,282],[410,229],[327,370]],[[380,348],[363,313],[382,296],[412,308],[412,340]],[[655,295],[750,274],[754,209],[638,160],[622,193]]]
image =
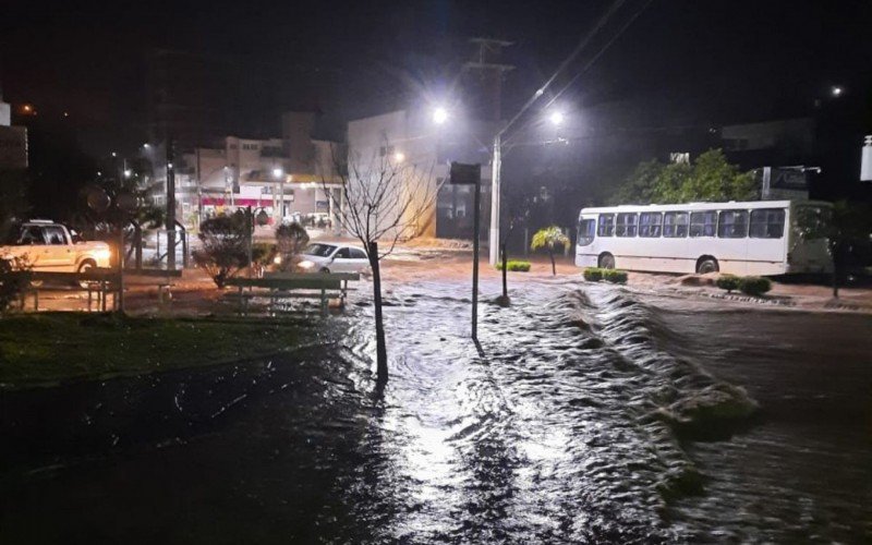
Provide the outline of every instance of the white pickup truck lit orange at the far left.
[[111,266],[112,250],[105,242],[75,241],[60,223],[25,221],[0,242],[0,259],[21,258],[35,271],[82,272]]

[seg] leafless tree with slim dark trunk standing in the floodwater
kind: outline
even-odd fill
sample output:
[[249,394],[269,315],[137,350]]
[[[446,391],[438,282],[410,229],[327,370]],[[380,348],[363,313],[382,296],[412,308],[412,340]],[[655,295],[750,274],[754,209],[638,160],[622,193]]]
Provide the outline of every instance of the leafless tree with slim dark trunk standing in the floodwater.
[[376,363],[378,380],[384,383],[388,378],[388,355],[379,262],[393,252],[398,242],[420,237],[431,225],[436,181],[432,165],[421,168],[403,156],[374,153],[366,160],[350,149],[343,161],[332,148],[331,154],[342,189],[330,191],[324,178],[322,186],[341,227],[363,244],[373,269]]

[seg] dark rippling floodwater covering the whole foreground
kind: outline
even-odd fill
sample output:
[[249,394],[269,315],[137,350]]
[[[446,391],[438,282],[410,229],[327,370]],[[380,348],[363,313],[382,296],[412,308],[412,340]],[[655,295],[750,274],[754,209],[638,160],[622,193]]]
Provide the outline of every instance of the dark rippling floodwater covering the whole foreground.
[[387,293],[382,391],[362,304],[271,361],[2,393],[0,542],[872,537],[869,317],[542,280],[479,349],[468,293]]

